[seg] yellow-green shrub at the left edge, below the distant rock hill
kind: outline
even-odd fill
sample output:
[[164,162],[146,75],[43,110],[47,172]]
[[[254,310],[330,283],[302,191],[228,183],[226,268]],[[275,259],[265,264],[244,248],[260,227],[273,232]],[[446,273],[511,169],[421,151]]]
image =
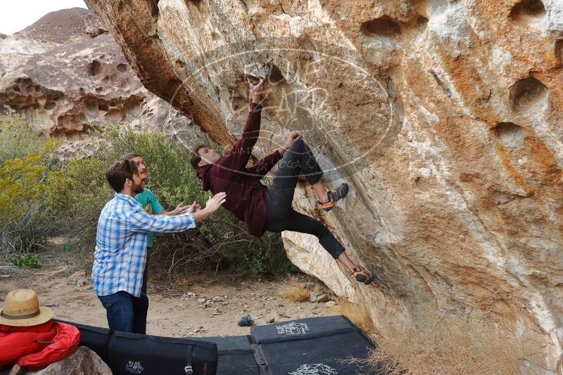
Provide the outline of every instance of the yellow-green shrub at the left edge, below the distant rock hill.
[[0,251],[25,253],[59,231],[51,186],[62,176],[57,143],[20,116],[0,121]]

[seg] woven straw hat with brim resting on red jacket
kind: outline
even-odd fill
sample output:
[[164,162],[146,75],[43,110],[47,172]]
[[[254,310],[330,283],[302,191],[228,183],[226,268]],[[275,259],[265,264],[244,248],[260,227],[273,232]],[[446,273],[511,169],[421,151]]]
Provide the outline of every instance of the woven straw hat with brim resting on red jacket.
[[0,324],[12,327],[30,327],[53,319],[50,308],[39,307],[37,293],[31,289],[16,289],[8,293],[0,310]]

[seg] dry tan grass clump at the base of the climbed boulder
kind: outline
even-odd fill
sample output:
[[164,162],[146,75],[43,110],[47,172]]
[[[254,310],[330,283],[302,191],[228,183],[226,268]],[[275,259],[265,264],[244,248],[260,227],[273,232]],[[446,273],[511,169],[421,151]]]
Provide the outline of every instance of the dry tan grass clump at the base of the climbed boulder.
[[484,313],[420,313],[411,327],[388,324],[369,357],[384,374],[532,374],[523,367],[526,343],[509,325]]

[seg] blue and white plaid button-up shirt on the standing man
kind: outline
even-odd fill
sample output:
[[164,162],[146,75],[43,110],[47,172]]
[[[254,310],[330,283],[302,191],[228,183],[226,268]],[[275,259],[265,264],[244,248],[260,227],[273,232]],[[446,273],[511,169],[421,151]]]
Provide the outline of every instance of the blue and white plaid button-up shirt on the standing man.
[[182,232],[196,228],[191,213],[149,215],[134,198],[115,194],[101,210],[92,267],[92,285],[98,296],[127,291],[141,295],[146,263],[146,233]]

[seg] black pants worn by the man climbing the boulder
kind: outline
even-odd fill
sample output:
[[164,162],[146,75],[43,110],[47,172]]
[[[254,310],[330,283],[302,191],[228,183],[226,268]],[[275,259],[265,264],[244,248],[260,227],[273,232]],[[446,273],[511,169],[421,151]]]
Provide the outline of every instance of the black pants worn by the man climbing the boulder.
[[303,172],[311,185],[322,177],[322,170],[309,147],[303,140],[296,140],[279,161],[274,182],[266,190],[268,212],[265,230],[270,232],[290,230],[315,235],[322,247],[336,259],[344,251],[338,239],[320,221],[291,208],[300,172]]

